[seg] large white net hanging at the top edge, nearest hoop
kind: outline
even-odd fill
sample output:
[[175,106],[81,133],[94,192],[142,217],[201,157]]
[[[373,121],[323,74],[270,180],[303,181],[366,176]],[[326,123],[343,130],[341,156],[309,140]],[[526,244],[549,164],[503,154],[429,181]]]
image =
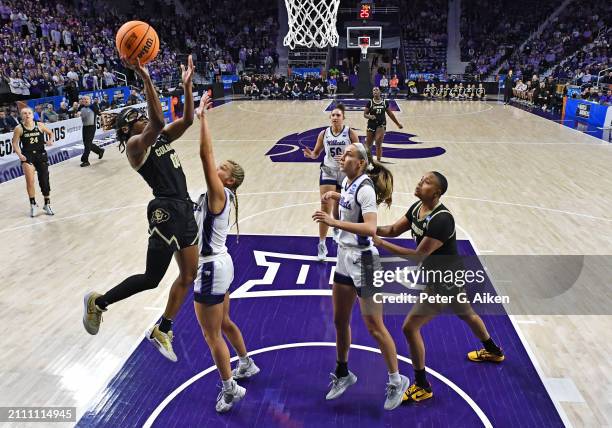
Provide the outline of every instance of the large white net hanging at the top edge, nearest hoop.
[[285,0],[285,6],[289,15],[285,46],[338,46],[336,17],[340,0]]

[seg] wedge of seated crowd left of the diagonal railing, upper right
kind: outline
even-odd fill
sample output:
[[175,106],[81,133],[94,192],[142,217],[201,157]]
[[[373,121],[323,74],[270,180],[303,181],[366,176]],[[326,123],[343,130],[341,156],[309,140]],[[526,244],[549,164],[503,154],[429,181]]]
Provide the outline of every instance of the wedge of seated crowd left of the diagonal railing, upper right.
[[466,73],[494,72],[559,6],[558,0],[462,0],[461,60]]

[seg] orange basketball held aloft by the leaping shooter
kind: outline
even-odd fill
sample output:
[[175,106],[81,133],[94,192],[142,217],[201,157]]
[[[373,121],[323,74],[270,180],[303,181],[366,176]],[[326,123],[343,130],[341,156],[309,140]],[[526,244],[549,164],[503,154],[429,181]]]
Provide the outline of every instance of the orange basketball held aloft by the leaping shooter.
[[115,45],[119,55],[125,56],[128,61],[134,62],[140,58],[140,62],[146,64],[155,59],[159,52],[159,37],[146,22],[130,21],[117,31]]

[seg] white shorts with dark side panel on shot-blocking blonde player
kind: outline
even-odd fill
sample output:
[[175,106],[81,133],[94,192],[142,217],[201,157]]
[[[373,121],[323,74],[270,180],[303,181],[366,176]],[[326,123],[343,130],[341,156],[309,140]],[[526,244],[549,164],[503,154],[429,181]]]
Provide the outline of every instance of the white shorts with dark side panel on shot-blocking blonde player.
[[228,253],[202,257],[193,284],[193,298],[205,305],[222,303],[234,280],[234,262]]

